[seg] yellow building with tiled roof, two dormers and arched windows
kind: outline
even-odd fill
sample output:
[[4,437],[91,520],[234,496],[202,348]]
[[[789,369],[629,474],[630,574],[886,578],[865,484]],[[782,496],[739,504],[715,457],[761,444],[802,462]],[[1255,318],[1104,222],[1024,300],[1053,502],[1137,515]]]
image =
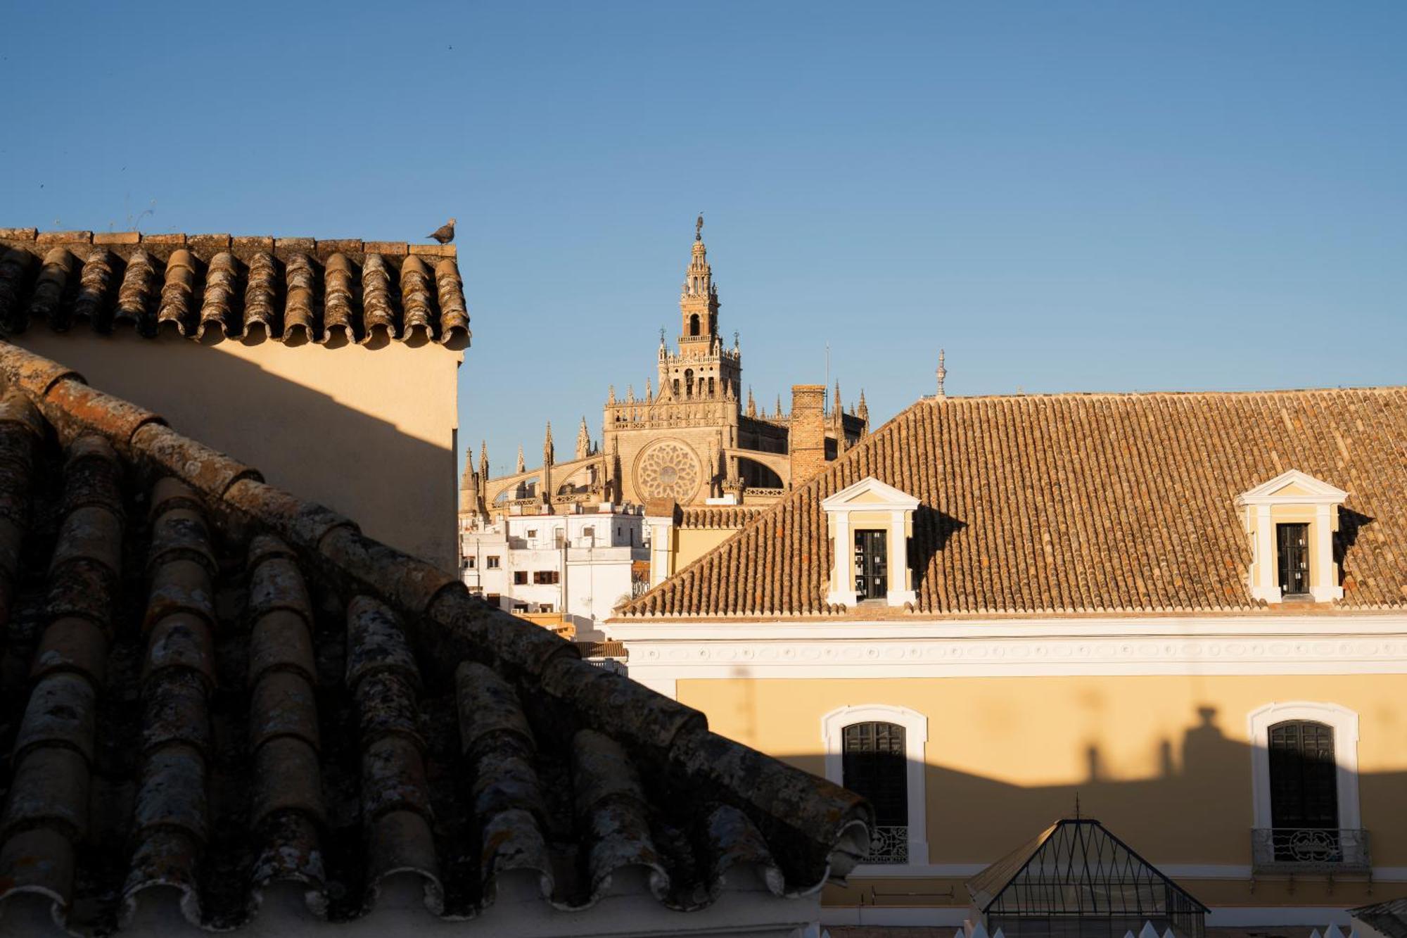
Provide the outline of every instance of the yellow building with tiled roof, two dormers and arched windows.
[[861,792],[826,921],[957,925],[1090,817],[1213,927],[1407,894],[1407,390],[920,400],[608,623]]

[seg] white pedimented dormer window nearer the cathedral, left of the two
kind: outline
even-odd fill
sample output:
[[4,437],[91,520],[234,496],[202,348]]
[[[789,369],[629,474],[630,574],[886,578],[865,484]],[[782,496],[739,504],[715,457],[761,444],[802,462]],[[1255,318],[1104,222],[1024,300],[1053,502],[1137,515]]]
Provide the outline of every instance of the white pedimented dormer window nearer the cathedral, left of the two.
[[827,603],[916,601],[908,558],[917,499],[871,476],[841,489],[820,507],[832,548]]

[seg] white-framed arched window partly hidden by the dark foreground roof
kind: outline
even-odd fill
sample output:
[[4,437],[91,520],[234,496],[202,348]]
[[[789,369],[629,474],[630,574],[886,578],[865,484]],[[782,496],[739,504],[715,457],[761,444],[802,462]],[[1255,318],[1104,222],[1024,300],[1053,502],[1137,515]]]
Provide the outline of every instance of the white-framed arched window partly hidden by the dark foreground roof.
[[822,718],[826,777],[865,796],[875,810],[865,863],[929,862],[924,823],[924,744],[929,721],[913,710],[871,704]]

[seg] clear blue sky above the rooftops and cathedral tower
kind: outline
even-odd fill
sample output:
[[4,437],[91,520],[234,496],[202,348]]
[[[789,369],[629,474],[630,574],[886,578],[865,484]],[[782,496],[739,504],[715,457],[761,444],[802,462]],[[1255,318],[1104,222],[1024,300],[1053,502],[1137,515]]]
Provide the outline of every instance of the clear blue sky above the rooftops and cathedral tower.
[[1407,382],[1407,4],[0,3],[0,225],[459,217],[495,473],[678,331],[768,407]]

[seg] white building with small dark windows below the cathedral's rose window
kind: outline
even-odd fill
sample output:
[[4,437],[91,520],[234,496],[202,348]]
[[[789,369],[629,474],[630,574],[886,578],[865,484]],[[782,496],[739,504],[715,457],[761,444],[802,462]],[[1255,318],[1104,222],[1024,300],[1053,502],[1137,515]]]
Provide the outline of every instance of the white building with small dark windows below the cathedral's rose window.
[[578,635],[594,632],[644,586],[650,559],[644,514],[629,504],[574,508],[509,514],[494,523],[461,520],[464,584],[509,613],[561,613]]

